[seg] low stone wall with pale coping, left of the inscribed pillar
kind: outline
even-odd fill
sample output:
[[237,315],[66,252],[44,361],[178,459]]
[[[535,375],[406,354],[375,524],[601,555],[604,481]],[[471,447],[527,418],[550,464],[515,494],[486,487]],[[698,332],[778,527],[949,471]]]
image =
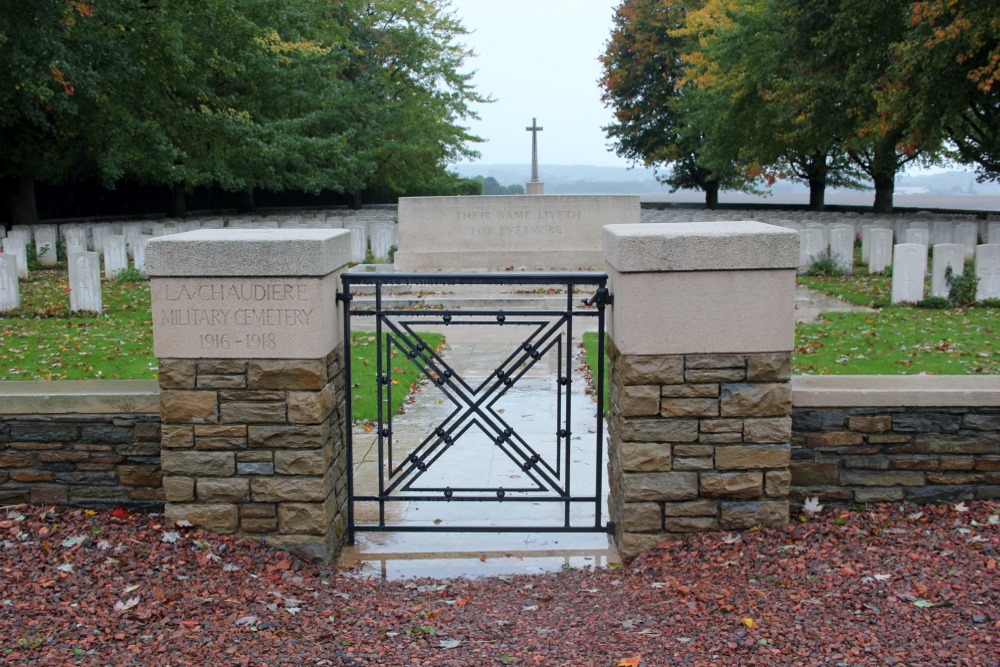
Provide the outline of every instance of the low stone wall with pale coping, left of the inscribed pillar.
[[0,383],[0,504],[159,510],[155,381]]

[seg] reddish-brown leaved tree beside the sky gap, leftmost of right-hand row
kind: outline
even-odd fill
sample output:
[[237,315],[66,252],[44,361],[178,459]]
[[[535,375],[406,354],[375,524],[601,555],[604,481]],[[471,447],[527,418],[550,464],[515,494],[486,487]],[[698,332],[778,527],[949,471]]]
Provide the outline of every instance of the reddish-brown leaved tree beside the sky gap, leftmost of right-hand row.
[[693,93],[694,84],[685,79],[682,56],[692,44],[677,31],[702,4],[624,0],[601,58],[600,84],[602,100],[615,116],[604,131],[618,155],[653,167],[674,190],[702,190],[706,206],[715,208],[720,188],[744,187],[746,178],[731,161],[706,163],[704,137],[686,131],[681,100]]

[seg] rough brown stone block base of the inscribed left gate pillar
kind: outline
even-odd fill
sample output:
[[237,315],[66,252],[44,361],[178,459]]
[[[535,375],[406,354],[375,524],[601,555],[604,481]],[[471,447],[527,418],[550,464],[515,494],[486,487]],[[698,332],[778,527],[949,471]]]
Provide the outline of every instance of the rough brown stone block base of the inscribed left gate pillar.
[[160,360],[167,520],[330,560],[347,535],[343,346],[320,360]]

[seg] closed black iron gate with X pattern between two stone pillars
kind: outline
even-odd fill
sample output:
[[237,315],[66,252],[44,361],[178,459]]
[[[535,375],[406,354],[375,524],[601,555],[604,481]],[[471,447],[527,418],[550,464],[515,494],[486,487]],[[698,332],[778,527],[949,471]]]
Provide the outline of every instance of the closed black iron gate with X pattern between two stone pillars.
[[[421,298],[423,290],[431,286],[439,290],[461,289],[459,286],[479,286],[479,290],[491,292],[506,290],[501,298],[505,301],[502,305],[507,307],[488,307],[491,300],[496,301],[496,293],[490,295],[492,298],[473,298],[464,307],[453,303],[435,304]],[[418,290],[416,298],[415,289]],[[564,301],[561,298],[563,291]],[[539,295],[553,292],[558,293],[555,300],[560,305],[552,307],[544,303],[540,307]],[[367,439],[377,447],[377,459],[369,466],[377,466],[377,483],[370,478],[364,480],[367,484],[364,489],[357,487],[360,479],[356,479],[354,458],[357,443],[351,428],[347,428],[347,457],[351,471],[348,519],[352,541],[355,531],[607,530],[602,519],[603,364],[598,364],[594,378],[596,404],[587,400],[583,406],[574,406],[572,391],[573,383],[582,380],[574,377],[574,370],[580,363],[576,359],[574,323],[584,320],[591,330],[596,329],[597,358],[604,358],[605,306],[610,302],[606,275],[345,273],[338,300],[344,307],[347,341],[345,417],[348,424],[354,418],[354,401],[359,398],[354,392],[359,378],[372,373],[377,392],[377,419],[369,425],[371,436]],[[553,297],[541,300],[552,301]],[[518,301],[525,305],[520,306]],[[368,323],[365,335],[369,341],[374,338],[373,368],[352,367],[352,322],[360,318]],[[448,335],[448,331],[458,327],[473,327],[471,331],[477,334],[489,327],[506,327],[508,341],[516,339],[518,343],[509,353],[505,351],[498,357],[502,361],[495,368],[491,366],[488,375],[476,379],[463,377],[422,333],[437,328]],[[513,338],[509,335],[512,328],[516,332]],[[401,364],[413,364],[419,370],[425,393],[440,392],[443,399],[438,402],[444,405],[443,410],[447,413],[443,411],[444,416],[436,423],[422,425],[420,433],[410,433],[410,442],[400,442],[394,428],[394,415],[389,409],[393,392],[408,390],[408,387],[396,386],[393,379],[394,371],[398,371]],[[554,399],[554,408],[549,407],[545,415],[529,419],[530,425],[524,426],[518,423],[518,415],[505,414],[501,406],[505,400],[513,400],[511,397],[519,386],[538,386],[540,380],[535,376],[539,367],[554,371],[551,382],[545,385],[550,387],[548,393]],[[534,400],[536,397],[537,389],[529,396],[528,405],[522,401],[518,409],[524,412],[539,407]],[[585,433],[576,433],[572,423],[574,420],[580,423],[581,411],[589,415],[591,426]],[[540,423],[542,430],[538,431]],[[590,437],[593,438],[592,448],[587,445]],[[571,443],[576,444],[571,446]],[[465,454],[456,455],[463,448],[467,448]],[[581,479],[573,473],[581,460],[575,457],[582,457],[584,452],[593,457],[588,462],[592,474]],[[469,464],[470,459],[462,459],[463,455],[477,457],[472,461],[474,465]],[[499,472],[484,475],[486,479],[470,479],[467,469],[483,468],[482,457],[497,461]],[[362,465],[357,468],[360,470]],[[498,483],[496,478],[504,472],[509,473],[503,476],[511,480],[508,484]],[[498,520],[503,517],[503,509],[495,510],[492,518],[476,515],[477,519],[485,519],[485,523],[482,520],[463,521],[462,517],[431,521],[427,513],[426,520],[394,523],[392,507],[399,503],[416,503],[419,507],[424,507],[424,503],[428,503],[426,507],[448,503],[452,508],[469,503],[466,507],[477,509],[489,503],[497,508],[505,503],[529,503],[532,509],[545,506],[545,512],[544,516],[527,518],[521,524]],[[358,520],[359,507],[368,510],[370,520]],[[431,511],[440,508],[437,505]]]

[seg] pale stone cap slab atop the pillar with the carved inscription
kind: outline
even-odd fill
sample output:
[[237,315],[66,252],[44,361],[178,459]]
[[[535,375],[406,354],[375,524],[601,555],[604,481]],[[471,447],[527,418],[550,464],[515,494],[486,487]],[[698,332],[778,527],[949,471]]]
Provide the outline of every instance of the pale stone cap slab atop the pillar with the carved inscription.
[[325,276],[350,261],[346,229],[199,229],[146,244],[153,277]]

